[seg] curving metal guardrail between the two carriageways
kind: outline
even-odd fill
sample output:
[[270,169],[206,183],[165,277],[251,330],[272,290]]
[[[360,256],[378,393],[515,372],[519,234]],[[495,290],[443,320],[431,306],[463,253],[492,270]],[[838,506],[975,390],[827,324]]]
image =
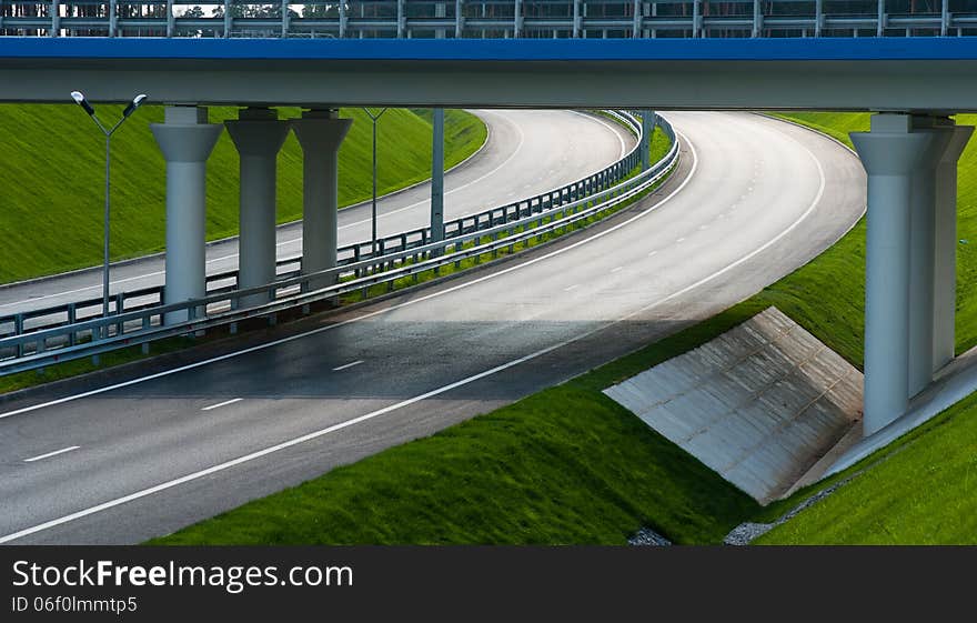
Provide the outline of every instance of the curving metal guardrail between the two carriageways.
[[[639,137],[641,122],[634,115],[626,112],[605,112],[626,123]],[[140,302],[135,308],[124,311],[125,300],[139,300],[154,293],[159,294],[161,289],[128,292],[115,297],[119,311],[107,318],[79,320],[78,316],[79,309],[87,305],[101,309],[101,299],[70,303],[52,308],[59,312],[63,311],[66,314],[63,321],[36,330],[26,329],[26,320],[42,318],[43,312],[51,315],[50,310],[6,316],[0,319],[0,322],[12,321],[14,334],[0,338],[0,375],[95,355],[128,345],[149,343],[162,338],[193,333],[251,318],[273,318],[279,311],[335,299],[381,283],[386,283],[389,289],[392,289],[393,282],[397,279],[416,277],[426,270],[451,263],[457,265],[462,260],[479,258],[486,252],[495,255],[504,247],[512,247],[534,237],[540,238],[561,228],[565,229],[635,197],[672,169],[678,160],[678,142],[667,121],[658,119],[659,127],[672,141],[672,148],[648,170],[626,178],[639,162],[638,149],[635,147],[620,161],[584,180],[532,199],[457,219],[454,221],[457,227],[453,235],[440,242],[425,239],[427,230],[417,230],[425,233],[422,233],[421,241],[413,245],[406,242],[400,249],[387,249],[385,253],[377,253],[376,257],[370,254],[362,257],[361,253],[361,257],[346,260],[343,265],[315,273],[298,274],[298,271],[289,271],[272,283],[245,290],[221,284],[222,281],[234,279],[234,273],[213,275],[209,281],[218,287],[209,291],[205,298],[173,304]],[[626,179],[621,181],[622,178]],[[399,242],[405,240],[401,237],[391,238],[397,239]],[[469,243],[471,247],[466,247]],[[360,243],[360,247],[363,244],[369,243]],[[286,264],[298,260],[290,259],[281,263]],[[383,270],[377,270],[379,268]],[[351,279],[341,281],[342,278]],[[310,290],[310,283],[319,283],[322,280],[338,283]],[[270,302],[239,309],[242,299],[254,294],[266,294]],[[187,320],[167,324],[165,316],[170,314],[172,318],[174,313],[185,315]]]

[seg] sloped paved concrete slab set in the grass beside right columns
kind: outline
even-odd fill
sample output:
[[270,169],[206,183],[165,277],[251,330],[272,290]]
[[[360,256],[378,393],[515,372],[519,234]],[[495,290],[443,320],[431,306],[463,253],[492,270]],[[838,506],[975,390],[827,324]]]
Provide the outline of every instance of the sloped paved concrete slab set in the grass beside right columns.
[[604,393],[766,504],[820,478],[857,442],[862,382],[768,308]]

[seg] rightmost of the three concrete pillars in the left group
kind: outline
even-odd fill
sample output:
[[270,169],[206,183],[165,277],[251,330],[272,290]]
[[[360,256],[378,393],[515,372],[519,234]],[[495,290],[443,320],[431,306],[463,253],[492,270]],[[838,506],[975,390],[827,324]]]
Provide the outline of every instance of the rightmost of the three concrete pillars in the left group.
[[[309,274],[336,265],[339,209],[339,150],[353,124],[340,119],[338,110],[309,110],[292,128],[302,145],[302,273]],[[310,290],[326,288],[333,278],[315,279]]]

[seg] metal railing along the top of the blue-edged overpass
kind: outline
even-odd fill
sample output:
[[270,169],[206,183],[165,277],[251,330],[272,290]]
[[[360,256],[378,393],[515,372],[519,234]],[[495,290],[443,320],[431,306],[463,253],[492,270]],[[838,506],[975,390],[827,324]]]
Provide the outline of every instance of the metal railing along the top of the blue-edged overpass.
[[220,38],[977,34],[973,0],[239,0],[0,2],[0,34]]

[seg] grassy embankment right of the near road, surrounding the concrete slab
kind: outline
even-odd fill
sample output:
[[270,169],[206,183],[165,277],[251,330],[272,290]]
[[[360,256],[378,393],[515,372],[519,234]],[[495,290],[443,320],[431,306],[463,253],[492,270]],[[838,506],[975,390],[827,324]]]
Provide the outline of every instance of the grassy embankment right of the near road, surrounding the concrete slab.
[[[845,138],[867,115],[798,114]],[[961,122],[974,121],[960,119]],[[977,149],[960,165],[961,239],[977,231]],[[333,470],[159,543],[623,543],[649,525],[715,543],[808,492],[761,509],[601,390],[777,305],[860,365],[864,223],[806,267],[696,326],[431,438]],[[975,342],[974,261],[959,254],[958,350]],[[763,542],[975,541],[977,421],[970,398]],[[899,448],[900,452],[894,452]]]

